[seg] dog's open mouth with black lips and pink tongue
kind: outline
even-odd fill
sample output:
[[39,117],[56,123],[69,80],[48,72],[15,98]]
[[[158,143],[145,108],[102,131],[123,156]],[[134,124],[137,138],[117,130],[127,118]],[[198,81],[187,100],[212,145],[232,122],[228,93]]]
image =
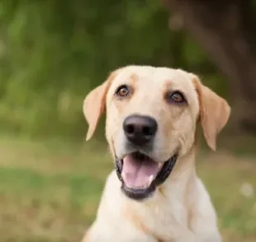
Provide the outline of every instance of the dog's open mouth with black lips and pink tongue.
[[123,159],[116,157],[116,174],[121,180],[121,189],[135,200],[149,198],[154,190],[168,178],[177,161],[177,155],[168,161],[156,162],[138,151]]

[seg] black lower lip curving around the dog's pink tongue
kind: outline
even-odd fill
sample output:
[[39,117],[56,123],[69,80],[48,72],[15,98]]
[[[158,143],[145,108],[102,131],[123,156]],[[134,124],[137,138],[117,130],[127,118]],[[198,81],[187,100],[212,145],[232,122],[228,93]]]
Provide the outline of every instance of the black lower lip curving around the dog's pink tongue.
[[174,165],[176,164],[178,156],[174,155],[168,161],[164,162],[164,165],[161,170],[159,170],[158,175],[153,180],[149,188],[145,189],[134,189],[134,188],[127,188],[126,184],[124,183],[122,177],[121,177],[121,170],[122,170],[122,162],[120,159],[116,157],[116,175],[118,179],[121,181],[121,190],[123,193],[126,194],[128,198],[134,199],[136,201],[142,201],[146,198],[151,197],[154,194],[155,189],[161,185],[164,184],[164,181],[168,178],[168,176],[171,174]]

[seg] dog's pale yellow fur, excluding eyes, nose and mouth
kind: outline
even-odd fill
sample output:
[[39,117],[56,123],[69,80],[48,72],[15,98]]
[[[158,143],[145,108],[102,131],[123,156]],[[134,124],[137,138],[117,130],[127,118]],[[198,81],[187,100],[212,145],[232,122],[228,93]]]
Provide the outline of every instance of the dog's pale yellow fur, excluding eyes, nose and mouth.
[[[114,96],[121,84],[133,86],[126,100]],[[183,91],[187,105],[168,104],[167,90]],[[142,202],[127,198],[115,170],[107,177],[97,218],[83,242],[220,242],[216,212],[197,177],[197,123],[212,150],[230,116],[230,106],[199,78],[181,69],[128,66],[112,72],[83,104],[89,140],[107,109],[106,137],[113,158],[126,153],[122,123],[129,114],[154,117],[159,125],[151,156],[166,161],[178,150],[178,161],[154,196]]]

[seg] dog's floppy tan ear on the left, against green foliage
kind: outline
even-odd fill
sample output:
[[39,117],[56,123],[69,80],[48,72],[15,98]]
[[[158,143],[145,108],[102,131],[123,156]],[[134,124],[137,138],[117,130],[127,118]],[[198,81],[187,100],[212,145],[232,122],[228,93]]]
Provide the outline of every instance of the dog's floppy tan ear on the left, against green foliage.
[[105,111],[107,91],[115,76],[116,72],[112,72],[107,81],[90,91],[83,100],[83,114],[89,125],[86,136],[87,141],[95,133],[97,124]]

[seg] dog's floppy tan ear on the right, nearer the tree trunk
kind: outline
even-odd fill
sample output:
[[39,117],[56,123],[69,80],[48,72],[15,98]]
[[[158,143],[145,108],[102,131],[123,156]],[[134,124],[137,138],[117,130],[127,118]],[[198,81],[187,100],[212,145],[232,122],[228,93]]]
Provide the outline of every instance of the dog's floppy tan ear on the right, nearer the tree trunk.
[[190,73],[197,90],[200,105],[200,123],[209,147],[216,151],[216,138],[230,118],[230,105],[210,88],[201,84],[199,78]]

